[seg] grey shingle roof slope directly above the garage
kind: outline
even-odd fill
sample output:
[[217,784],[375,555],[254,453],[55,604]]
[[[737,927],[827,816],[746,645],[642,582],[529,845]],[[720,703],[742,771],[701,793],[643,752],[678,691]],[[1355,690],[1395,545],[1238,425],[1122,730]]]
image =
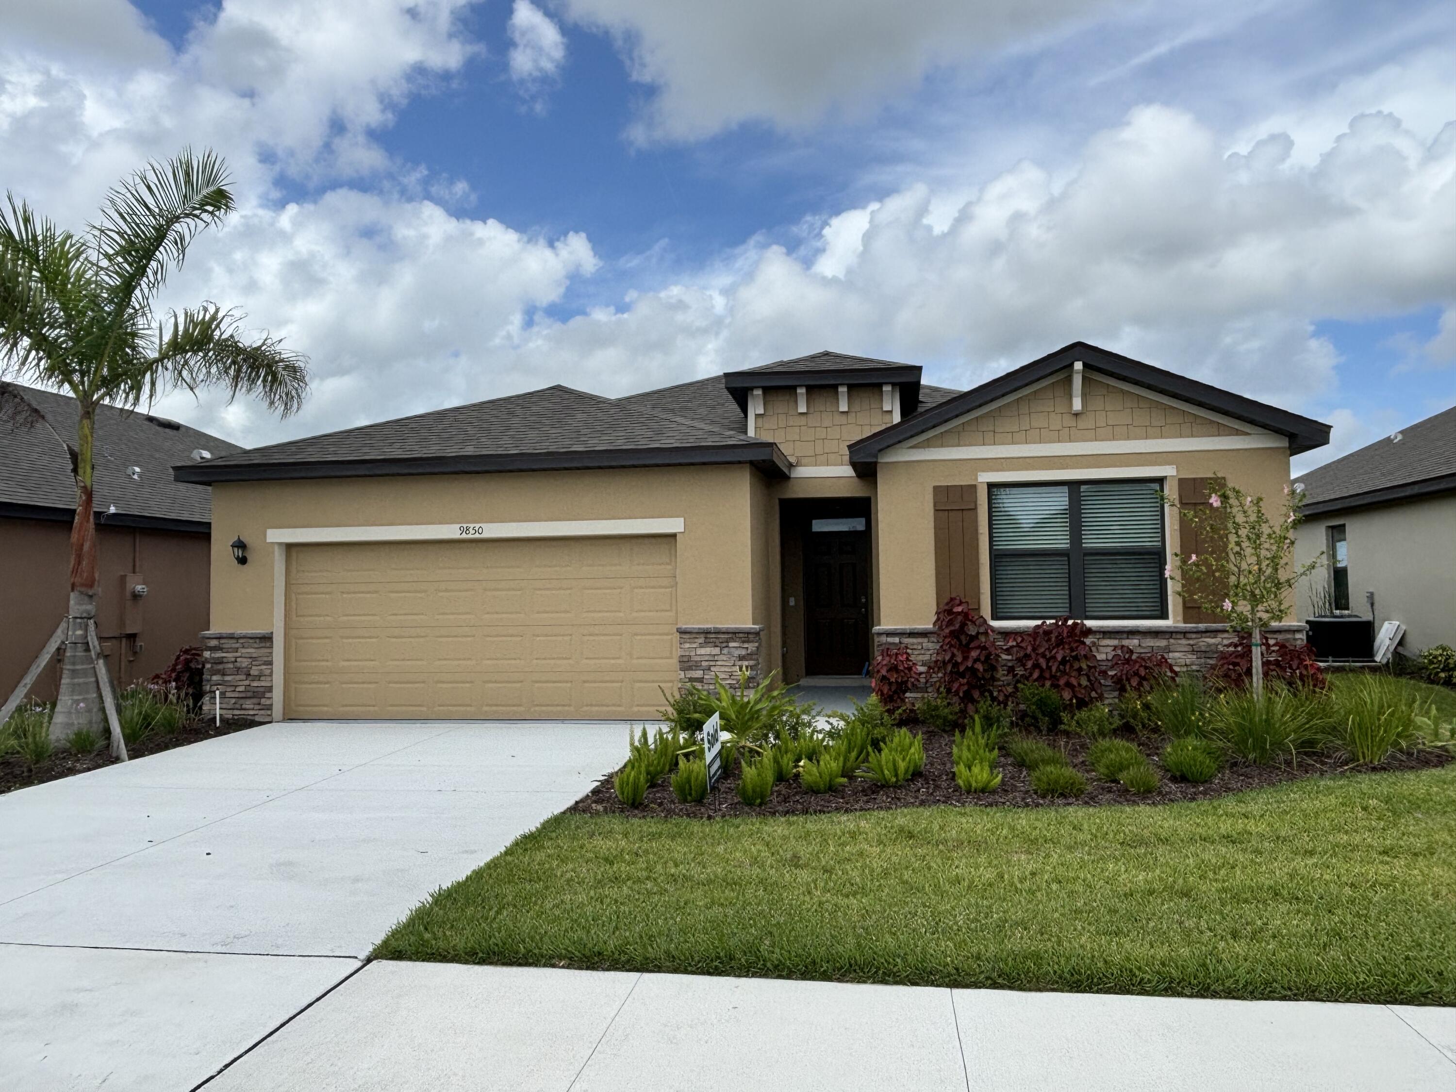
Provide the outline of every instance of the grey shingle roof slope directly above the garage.
[[[338,432],[255,447],[217,466],[636,451],[748,441],[703,421],[553,386]],[[748,441],[751,443],[751,441]]]

